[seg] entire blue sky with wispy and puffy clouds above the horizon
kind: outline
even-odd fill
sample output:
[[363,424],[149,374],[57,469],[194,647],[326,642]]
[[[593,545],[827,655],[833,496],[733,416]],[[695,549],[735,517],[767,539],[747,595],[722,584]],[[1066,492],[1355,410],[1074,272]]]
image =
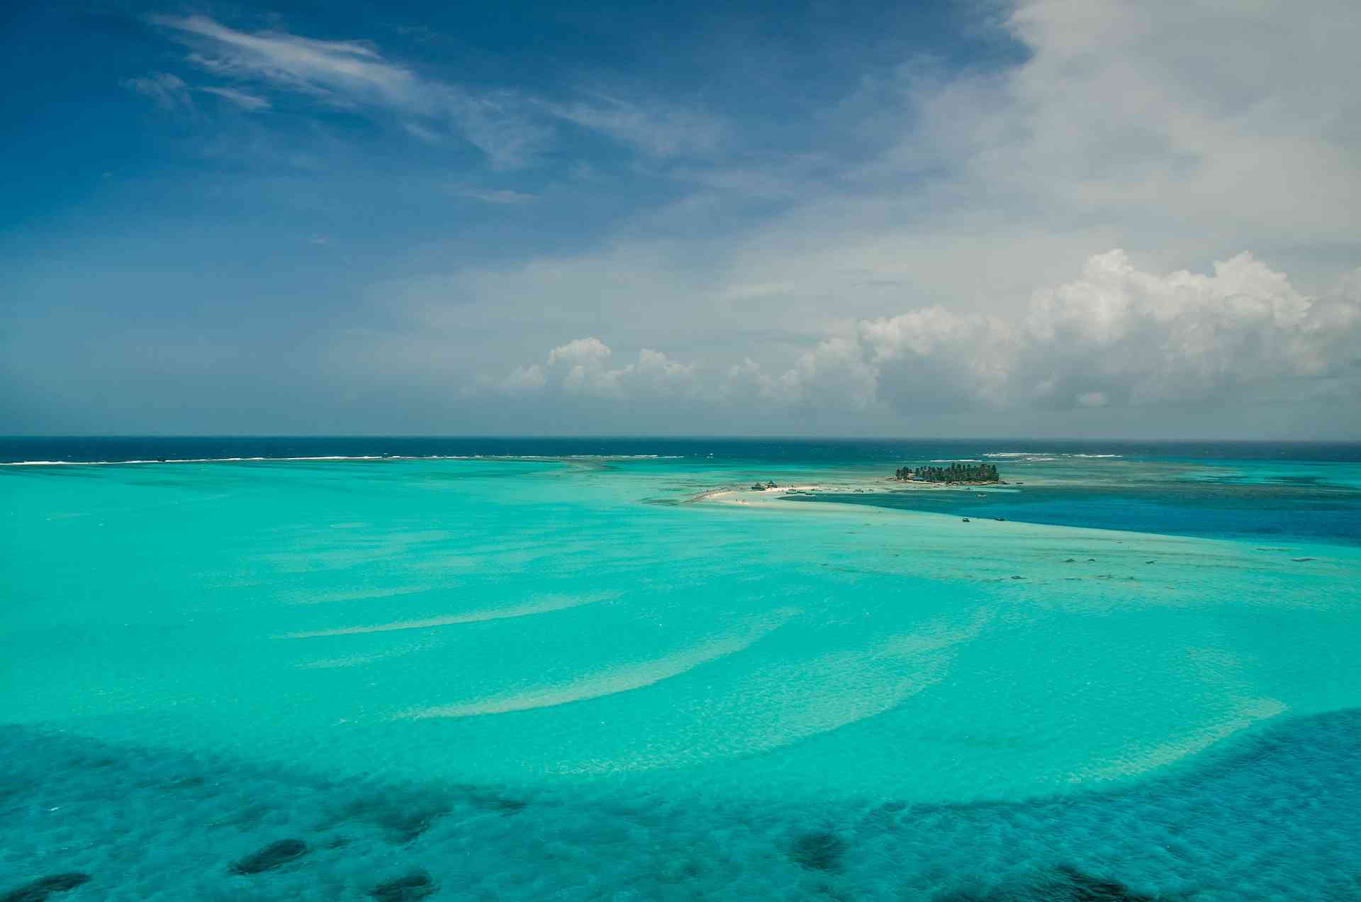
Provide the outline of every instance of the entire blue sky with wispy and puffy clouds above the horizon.
[[0,433],[1361,439],[1356,0],[11,3]]

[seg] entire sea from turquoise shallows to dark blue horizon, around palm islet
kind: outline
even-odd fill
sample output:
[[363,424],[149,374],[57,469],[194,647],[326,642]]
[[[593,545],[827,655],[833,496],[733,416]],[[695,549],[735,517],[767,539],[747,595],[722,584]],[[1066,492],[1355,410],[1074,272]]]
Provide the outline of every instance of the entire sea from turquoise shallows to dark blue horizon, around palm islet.
[[0,899],[1361,895],[1356,446],[0,456]]

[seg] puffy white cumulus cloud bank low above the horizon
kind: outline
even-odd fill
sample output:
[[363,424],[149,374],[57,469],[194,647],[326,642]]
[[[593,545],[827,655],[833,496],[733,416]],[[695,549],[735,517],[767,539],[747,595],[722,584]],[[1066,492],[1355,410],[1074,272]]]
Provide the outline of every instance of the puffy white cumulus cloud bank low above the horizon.
[[905,414],[1337,399],[1361,377],[1358,287],[1353,279],[1350,292],[1307,297],[1248,253],[1215,263],[1214,275],[1157,275],[1109,251],[1089,259],[1081,279],[1036,292],[1011,319],[939,305],[863,319],[778,373],[750,358],[704,372],[646,347],[617,364],[589,337],[478,387],[795,407],[882,402]]

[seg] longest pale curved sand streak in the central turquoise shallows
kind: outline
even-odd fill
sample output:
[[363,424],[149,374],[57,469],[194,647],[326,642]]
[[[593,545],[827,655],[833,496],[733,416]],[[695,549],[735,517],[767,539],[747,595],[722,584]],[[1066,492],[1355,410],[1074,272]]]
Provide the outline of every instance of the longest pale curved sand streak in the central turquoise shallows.
[[641,689],[663,680],[680,676],[693,670],[701,664],[708,664],[729,654],[736,654],[747,649],[758,639],[774,629],[778,629],[796,610],[784,609],[776,612],[769,620],[762,620],[744,629],[717,636],[709,642],[691,649],[675,651],[652,661],[638,661],[625,664],[608,670],[589,673],[559,685],[548,685],[528,692],[514,692],[509,695],[493,695],[476,702],[463,704],[442,704],[427,709],[418,709],[396,715],[393,719],[427,719],[427,718],[456,718],[480,717],[485,714],[508,714],[510,711],[529,711],[534,709],[555,707],[570,704],[572,702],[585,702],[606,695],[618,695]]

